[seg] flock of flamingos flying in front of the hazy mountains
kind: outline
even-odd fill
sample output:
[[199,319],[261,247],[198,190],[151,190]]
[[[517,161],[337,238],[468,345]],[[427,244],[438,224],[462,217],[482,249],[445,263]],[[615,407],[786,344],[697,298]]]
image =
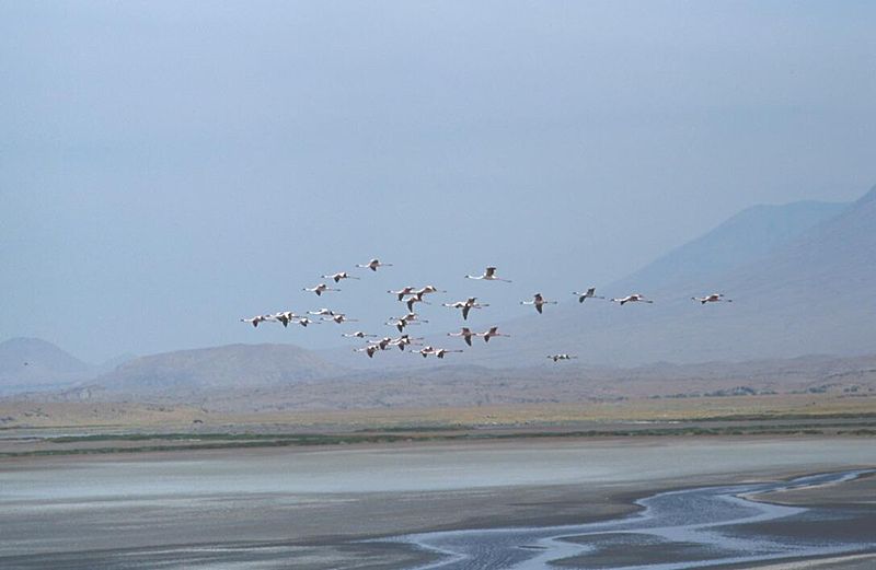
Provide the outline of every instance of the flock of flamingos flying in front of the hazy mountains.
[[[381,267],[392,267],[392,264],[385,264],[380,261],[380,259],[371,259],[367,264],[357,264],[356,267],[362,269],[370,269],[371,271],[377,271]],[[466,275],[465,279],[474,279],[481,281],[500,281],[505,283],[512,282],[510,279],[504,279],[497,275],[497,268],[495,266],[487,267],[482,275]],[[360,280],[361,277],[350,275],[347,271],[338,271],[335,274],[326,274],[321,276],[323,279],[332,280],[335,283],[339,283],[342,280],[345,279],[355,279]],[[302,288],[303,291],[315,293],[316,296],[322,296],[325,292],[341,292],[341,289],[330,288],[325,282],[321,282],[314,287],[306,287]],[[407,313],[400,317],[390,317],[385,325],[392,326],[397,329],[399,337],[393,338],[389,336],[384,336],[381,338],[380,335],[368,334],[362,330],[356,330],[354,333],[343,333],[342,336],[344,338],[357,338],[357,339],[374,339],[374,340],[366,340],[366,345],[362,347],[354,348],[355,352],[360,352],[368,358],[373,358],[374,354],[390,350],[391,348],[399,348],[399,350],[404,351],[405,347],[422,347],[417,350],[411,349],[412,354],[414,356],[422,356],[423,358],[435,357],[438,359],[442,359],[447,354],[463,352],[462,349],[447,349],[440,347],[433,347],[433,346],[423,346],[419,341],[424,340],[420,337],[412,338],[410,335],[404,333],[404,329],[412,325],[420,325],[428,323],[427,319],[422,318],[416,312],[414,312],[414,305],[417,303],[430,305],[431,303],[425,300],[426,295],[434,294],[434,293],[446,293],[447,291],[439,290],[437,287],[433,284],[427,284],[419,289],[406,286],[397,290],[389,290],[387,293],[390,293],[395,296],[395,299],[403,303],[407,307]],[[611,298],[607,299],[601,295],[596,294],[596,288],[590,287],[586,289],[584,292],[574,291],[572,293],[578,300],[578,303],[584,303],[588,299],[592,300],[607,300],[612,303],[618,303],[619,305],[624,305],[626,303],[654,303],[653,300],[646,299],[645,295],[641,293],[631,293],[626,296],[619,296],[619,298]],[[723,293],[711,293],[704,296],[692,296],[691,300],[699,302],[701,305],[705,305],[707,303],[717,303],[717,302],[725,302],[731,303],[733,300],[725,298]],[[539,314],[544,314],[544,306],[545,305],[555,305],[558,304],[556,300],[548,300],[541,293],[534,293],[531,300],[520,301],[521,305],[531,305],[535,309]],[[469,314],[472,309],[486,309],[489,306],[488,303],[482,303],[477,301],[476,296],[469,296],[463,301],[456,301],[450,303],[441,303],[442,306],[449,309],[459,310],[462,314],[462,319],[468,321]],[[247,318],[241,318],[240,321],[243,323],[249,323],[253,327],[258,327],[260,324],[266,322],[275,322],[280,323],[284,327],[288,327],[289,324],[298,324],[302,327],[307,327],[309,325],[319,325],[323,323],[334,323],[337,325],[342,325],[344,323],[356,323],[357,319],[347,317],[344,313],[338,313],[332,311],[326,307],[319,309],[316,311],[308,311],[308,315],[312,315],[314,317],[319,317],[318,321],[311,319],[308,316],[298,315],[292,311],[280,311],[276,313],[263,314],[263,315],[255,315]],[[456,333],[447,333],[448,337],[458,337],[461,338],[465,345],[472,347],[472,339],[473,338],[483,338],[484,344],[489,342],[491,338],[495,337],[509,337],[510,335],[506,335],[499,331],[498,326],[492,326],[487,330],[483,333],[476,333],[472,330],[468,326],[463,326],[460,328],[459,331]],[[578,357],[575,354],[569,354],[566,352],[561,352],[556,354],[548,354],[548,359],[552,360],[553,362],[560,362],[564,360],[573,360],[577,359]]]

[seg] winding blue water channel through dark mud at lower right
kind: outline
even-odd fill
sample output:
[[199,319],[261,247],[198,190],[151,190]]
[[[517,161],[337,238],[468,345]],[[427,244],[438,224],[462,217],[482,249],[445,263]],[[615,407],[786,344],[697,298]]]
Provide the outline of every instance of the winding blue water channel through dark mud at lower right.
[[495,528],[406,535],[394,538],[441,555],[418,570],[556,570],[599,568],[682,570],[782,558],[855,552],[876,547],[853,534],[831,537],[773,536],[747,532],[754,523],[783,521],[853,523],[861,512],[805,509],[744,498],[795,487],[853,479],[864,472],[807,476],[791,482],[704,487],[637,501],[641,513],[621,520],[537,528]]

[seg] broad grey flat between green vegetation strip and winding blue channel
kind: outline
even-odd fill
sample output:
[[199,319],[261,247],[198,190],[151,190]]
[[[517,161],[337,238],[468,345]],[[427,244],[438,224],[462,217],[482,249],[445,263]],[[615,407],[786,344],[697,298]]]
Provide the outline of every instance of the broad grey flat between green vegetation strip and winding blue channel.
[[[862,438],[521,440],[18,457],[0,461],[0,567],[120,568],[115,563],[124,555],[126,563],[142,560],[143,568],[162,557],[178,568],[211,557],[223,563],[261,560],[264,568],[276,560],[313,570],[406,568],[425,555],[357,540],[581,523],[632,512],[633,499],[664,489],[873,466],[876,446]],[[819,493],[838,489],[812,490],[809,500],[834,501]],[[843,492],[852,502],[874,496],[871,487],[851,489]]]

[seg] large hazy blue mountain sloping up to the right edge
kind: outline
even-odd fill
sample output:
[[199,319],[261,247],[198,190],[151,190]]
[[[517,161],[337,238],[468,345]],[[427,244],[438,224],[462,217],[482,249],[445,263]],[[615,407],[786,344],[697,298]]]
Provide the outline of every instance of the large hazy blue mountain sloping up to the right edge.
[[[471,362],[521,365],[553,352],[609,365],[871,352],[876,346],[876,188],[835,207],[832,217],[831,207],[820,209],[747,210],[598,290],[609,296],[641,292],[654,304],[550,305],[543,315],[507,323],[512,338],[502,348],[479,351]],[[690,299],[711,292],[734,302],[701,305]]]

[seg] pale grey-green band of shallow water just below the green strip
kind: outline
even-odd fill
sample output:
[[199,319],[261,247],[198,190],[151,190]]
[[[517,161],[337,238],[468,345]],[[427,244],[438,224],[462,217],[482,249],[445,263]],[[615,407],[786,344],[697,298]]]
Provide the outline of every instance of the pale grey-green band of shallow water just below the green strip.
[[[876,463],[857,439],[517,442],[313,451],[176,452],[0,460],[0,508],[216,495],[446,491],[527,485],[627,484],[689,476],[835,469]],[[841,467],[840,467],[841,468]],[[0,516],[2,513],[0,512]]]

